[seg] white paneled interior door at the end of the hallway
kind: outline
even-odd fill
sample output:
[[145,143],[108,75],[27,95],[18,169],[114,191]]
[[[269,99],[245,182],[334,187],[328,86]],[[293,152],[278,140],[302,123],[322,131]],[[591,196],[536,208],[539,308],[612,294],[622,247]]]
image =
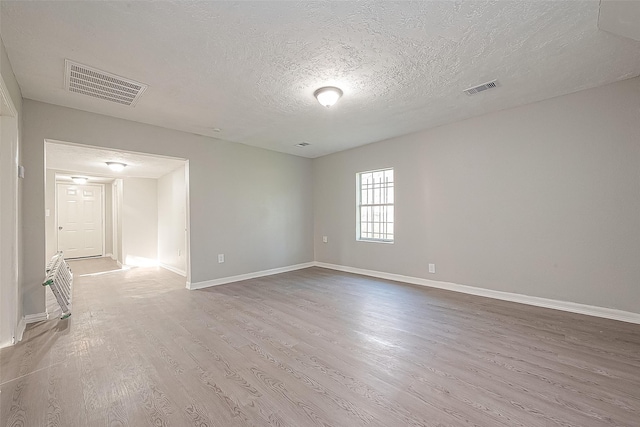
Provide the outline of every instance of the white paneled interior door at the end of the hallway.
[[58,184],[58,250],[65,258],[102,255],[102,186]]

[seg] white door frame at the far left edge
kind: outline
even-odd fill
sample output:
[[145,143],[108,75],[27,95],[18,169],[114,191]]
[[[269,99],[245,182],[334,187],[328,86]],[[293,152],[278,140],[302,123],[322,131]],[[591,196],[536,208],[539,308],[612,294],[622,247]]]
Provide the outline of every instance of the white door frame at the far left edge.
[[[0,271],[2,272],[0,277],[2,277],[3,280],[8,279],[8,284],[4,283],[0,286],[0,299],[3,301],[1,310],[2,317],[0,318],[0,322],[8,325],[8,328],[6,328],[7,336],[0,337],[0,347],[5,347],[7,345],[15,344],[22,339],[25,323],[20,318],[22,310],[20,310],[20,285],[18,272],[18,254],[20,245],[18,236],[18,140],[20,138],[18,123],[20,117],[18,116],[18,110],[11,98],[11,94],[9,93],[9,88],[1,75],[0,97],[0,102],[4,103],[8,109],[7,114],[4,114],[4,116],[13,117],[13,120],[11,120],[11,123],[9,124],[13,131],[12,140],[8,146],[6,143],[3,143],[0,148],[0,150],[2,150],[2,156],[9,156],[11,161],[11,167],[3,167],[0,172],[2,182],[9,182],[9,194],[3,194],[2,199],[4,203],[9,201],[9,210],[4,208],[4,215],[9,213],[12,223],[11,226],[6,227],[7,229],[4,229],[4,226],[2,229],[2,245],[7,245],[9,248],[5,248],[5,250],[8,249],[8,259],[4,259],[3,257],[0,263]],[[0,201],[0,203],[2,202]],[[6,272],[7,269],[9,270],[8,273]]]

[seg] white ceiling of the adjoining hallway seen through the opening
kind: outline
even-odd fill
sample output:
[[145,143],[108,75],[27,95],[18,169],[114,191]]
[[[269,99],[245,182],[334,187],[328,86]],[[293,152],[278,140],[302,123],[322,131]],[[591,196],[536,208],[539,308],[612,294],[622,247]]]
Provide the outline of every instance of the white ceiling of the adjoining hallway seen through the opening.
[[[47,141],[45,144],[47,169],[77,172],[82,176],[103,178],[160,178],[183,166],[185,161],[170,157],[92,148],[77,144]],[[106,162],[127,165],[121,172],[113,172]]]

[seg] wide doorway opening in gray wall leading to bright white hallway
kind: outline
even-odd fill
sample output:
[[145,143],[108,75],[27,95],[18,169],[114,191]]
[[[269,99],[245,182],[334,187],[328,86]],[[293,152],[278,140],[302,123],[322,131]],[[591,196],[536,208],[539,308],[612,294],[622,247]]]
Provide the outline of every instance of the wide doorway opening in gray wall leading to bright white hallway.
[[190,281],[188,160],[46,140],[45,169],[48,258],[111,258]]

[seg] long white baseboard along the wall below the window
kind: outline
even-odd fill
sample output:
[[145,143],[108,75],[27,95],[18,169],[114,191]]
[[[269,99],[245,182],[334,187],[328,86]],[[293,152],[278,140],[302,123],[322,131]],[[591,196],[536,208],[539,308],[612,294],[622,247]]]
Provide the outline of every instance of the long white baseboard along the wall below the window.
[[568,311],[571,313],[586,314],[587,316],[602,317],[605,319],[620,320],[622,322],[640,324],[640,313],[616,310],[613,308],[598,307],[594,305],[579,304],[569,301],[559,301],[548,298],[532,297],[528,295],[515,294],[512,292],[495,291],[492,289],[477,288],[474,286],[459,285],[457,283],[440,282],[437,280],[422,279],[419,277],[403,276],[401,274],[385,273],[382,271],[365,270],[362,268],[347,267],[343,265],[327,264],[315,262],[315,266],[328,268],[331,270],[344,271],[347,273],[361,274],[363,276],[377,277],[380,279],[394,280],[397,282],[410,283],[413,285],[428,286],[431,288],[445,289],[448,291],[461,292],[464,294],[477,295],[481,297],[499,299],[503,301],[517,302],[521,304],[533,305],[536,307],[552,308],[555,310]]

